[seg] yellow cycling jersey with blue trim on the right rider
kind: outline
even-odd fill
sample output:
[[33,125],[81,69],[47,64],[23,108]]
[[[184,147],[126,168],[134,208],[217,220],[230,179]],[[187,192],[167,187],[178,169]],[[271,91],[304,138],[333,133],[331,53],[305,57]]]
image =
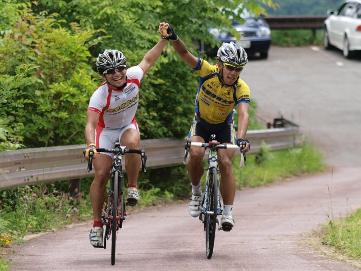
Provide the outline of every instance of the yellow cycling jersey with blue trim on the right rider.
[[241,78],[233,86],[222,87],[218,66],[201,58],[194,70],[200,79],[195,112],[206,122],[217,124],[231,120],[234,106],[250,102],[249,87]]

